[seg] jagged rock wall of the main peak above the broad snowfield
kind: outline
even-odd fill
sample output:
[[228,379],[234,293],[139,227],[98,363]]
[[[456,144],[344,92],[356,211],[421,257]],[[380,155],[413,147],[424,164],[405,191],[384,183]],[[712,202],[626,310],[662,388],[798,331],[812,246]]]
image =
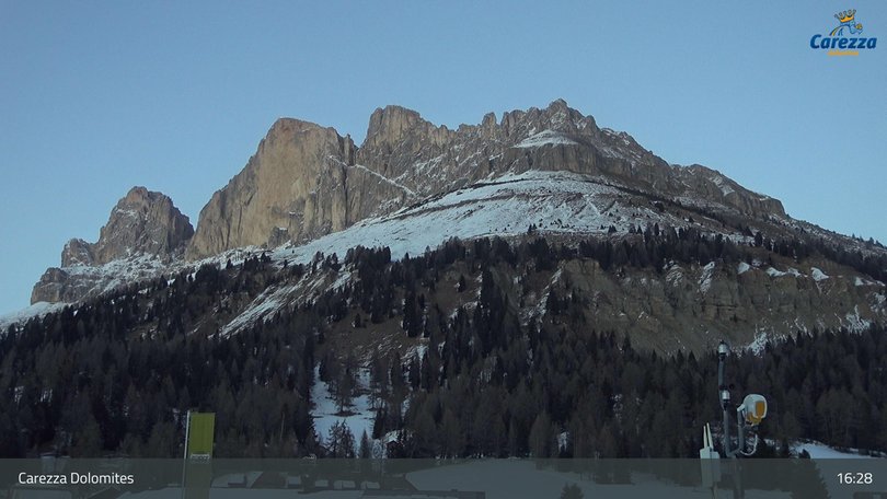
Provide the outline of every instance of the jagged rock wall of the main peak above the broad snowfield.
[[782,204],[714,170],[672,166],[631,136],[599,128],[562,100],[457,130],[401,106],[376,109],[364,143],[333,128],[277,120],[241,173],[200,211],[187,257],[302,243],[464,185],[528,170],[610,177],[658,197],[716,204],[750,218]]

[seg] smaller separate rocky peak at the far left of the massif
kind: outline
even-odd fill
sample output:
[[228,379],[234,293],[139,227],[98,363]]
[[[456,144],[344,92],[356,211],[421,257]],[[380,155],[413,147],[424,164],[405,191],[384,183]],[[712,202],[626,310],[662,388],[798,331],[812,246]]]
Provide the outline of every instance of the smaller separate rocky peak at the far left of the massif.
[[[168,196],[133,187],[120,199],[99,241],[72,239],[61,251],[61,268],[50,268],[34,286],[31,302],[72,302],[94,293],[100,282],[119,276],[99,270],[107,264],[148,258],[158,265],[180,257],[194,235],[188,218]],[[119,270],[120,265],[116,265]]]

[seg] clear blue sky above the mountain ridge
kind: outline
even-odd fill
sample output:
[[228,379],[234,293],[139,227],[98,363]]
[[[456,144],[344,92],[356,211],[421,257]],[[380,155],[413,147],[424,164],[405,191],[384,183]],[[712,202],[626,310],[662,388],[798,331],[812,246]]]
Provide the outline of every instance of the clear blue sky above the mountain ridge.
[[[133,185],[200,208],[279,116],[450,127],[557,97],[887,243],[887,3],[0,0],[0,313]],[[860,57],[809,48],[856,9]]]

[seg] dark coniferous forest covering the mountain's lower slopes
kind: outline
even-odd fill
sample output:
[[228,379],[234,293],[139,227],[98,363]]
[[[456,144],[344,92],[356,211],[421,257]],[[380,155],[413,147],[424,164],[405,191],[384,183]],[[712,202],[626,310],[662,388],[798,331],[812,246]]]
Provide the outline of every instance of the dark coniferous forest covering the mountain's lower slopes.
[[[533,232],[532,228],[529,232]],[[318,255],[310,265],[266,256],[169,276],[39,320],[0,337],[0,455],[181,455],[188,409],[214,411],[219,457],[355,456],[369,443],[336,426],[316,434],[311,386],[326,381],[341,410],[369,391],[372,439],[392,457],[691,457],[705,422],[719,420],[714,352],[665,356],[632,346],[632,332],[587,326],[578,292],[545,302],[522,322],[497,270],[551,270],[576,258],[606,271],[718,258],[759,250],[819,254],[887,280],[887,263],[797,241],[758,237],[758,248],[695,231],[637,230],[621,242],[577,246],[528,237],[451,240],[392,260],[388,248]],[[825,255],[826,252],[831,252]],[[214,317],[237,297],[349,269],[353,278],[309,304],[223,337]],[[475,286],[476,305],[445,313],[430,297],[444,276],[454,292]],[[424,338],[422,357],[390,348],[358,358],[332,335],[398,324]],[[770,416],[759,456],[787,455],[790,442],[887,451],[887,337],[798,333],[761,355],[729,359],[736,393],[767,394]],[[361,386],[358,371],[369,373]],[[717,427],[715,426],[715,429]]]

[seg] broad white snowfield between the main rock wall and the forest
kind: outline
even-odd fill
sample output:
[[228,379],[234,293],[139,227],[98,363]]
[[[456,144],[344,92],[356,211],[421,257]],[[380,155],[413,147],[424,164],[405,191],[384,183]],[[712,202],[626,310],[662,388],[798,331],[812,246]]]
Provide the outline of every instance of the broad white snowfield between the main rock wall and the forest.
[[619,205],[615,199],[620,194],[615,187],[569,172],[509,174],[360,221],[302,246],[281,246],[274,255],[275,259],[307,263],[318,252],[343,256],[348,248],[362,245],[389,246],[392,258],[400,259],[407,253],[419,255],[451,237],[525,234],[531,223],[541,233],[606,233],[610,225],[625,233],[631,224],[641,223],[627,217],[631,211],[644,220],[663,218],[647,208]]

